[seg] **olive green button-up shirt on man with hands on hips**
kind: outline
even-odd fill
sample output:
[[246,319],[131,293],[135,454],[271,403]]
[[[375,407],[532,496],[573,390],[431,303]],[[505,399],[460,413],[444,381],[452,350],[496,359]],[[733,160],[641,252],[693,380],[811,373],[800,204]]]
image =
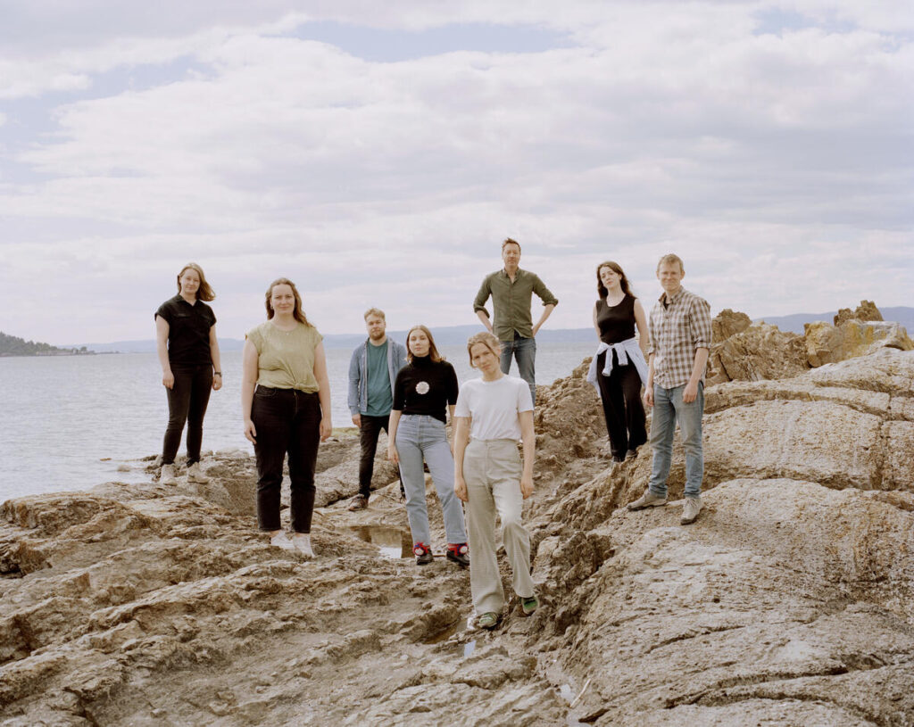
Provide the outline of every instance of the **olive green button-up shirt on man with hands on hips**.
[[517,269],[514,282],[505,269],[485,276],[473,300],[473,311],[485,310],[485,301],[492,296],[495,336],[499,341],[513,341],[515,331],[522,338],[533,338],[533,320],[530,317],[530,300],[536,293],[543,305],[558,305],[556,298],[539,277],[527,270]]

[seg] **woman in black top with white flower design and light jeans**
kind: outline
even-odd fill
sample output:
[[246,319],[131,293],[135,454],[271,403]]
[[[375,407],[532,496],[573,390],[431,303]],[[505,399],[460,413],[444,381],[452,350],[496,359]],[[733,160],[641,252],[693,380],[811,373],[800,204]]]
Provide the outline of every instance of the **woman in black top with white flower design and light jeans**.
[[460,500],[454,495],[454,460],[444,428],[448,410],[453,417],[457,403],[457,374],[453,366],[441,358],[431,332],[425,326],[413,326],[409,330],[406,351],[408,363],[400,369],[394,385],[388,458],[399,464],[400,479],[406,490],[413,553],[419,565],[432,561],[424,460],[441,500],[448,538],[446,556],[448,560],[466,566],[470,564],[466,528]]

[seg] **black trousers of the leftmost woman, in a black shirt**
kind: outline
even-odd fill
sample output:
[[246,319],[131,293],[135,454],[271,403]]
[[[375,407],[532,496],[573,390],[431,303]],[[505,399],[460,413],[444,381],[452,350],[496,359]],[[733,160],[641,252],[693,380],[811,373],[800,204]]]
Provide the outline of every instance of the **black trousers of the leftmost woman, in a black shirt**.
[[209,393],[213,390],[211,363],[187,368],[172,367],[175,385],[165,389],[168,395],[168,427],[162,443],[162,464],[175,464],[181,432],[187,425],[187,466],[200,461],[203,442],[203,417],[207,413]]

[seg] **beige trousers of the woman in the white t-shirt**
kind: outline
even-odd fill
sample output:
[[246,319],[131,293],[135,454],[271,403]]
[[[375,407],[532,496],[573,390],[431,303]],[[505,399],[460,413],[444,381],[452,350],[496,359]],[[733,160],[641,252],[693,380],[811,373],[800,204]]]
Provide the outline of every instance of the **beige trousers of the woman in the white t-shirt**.
[[520,454],[513,439],[474,439],[463,455],[463,479],[469,495],[470,591],[477,614],[500,614],[505,592],[495,558],[495,513],[502,521],[502,539],[511,564],[511,585],[521,597],[533,595],[530,577],[530,533],[520,522],[524,498],[520,491]]

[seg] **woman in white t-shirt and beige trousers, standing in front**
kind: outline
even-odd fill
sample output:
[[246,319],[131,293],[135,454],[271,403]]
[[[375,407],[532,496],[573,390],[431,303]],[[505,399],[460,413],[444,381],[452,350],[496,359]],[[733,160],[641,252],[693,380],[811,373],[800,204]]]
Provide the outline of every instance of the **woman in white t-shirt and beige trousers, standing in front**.
[[[476,333],[466,344],[470,365],[482,378],[461,386],[454,409],[454,491],[467,503],[470,591],[479,627],[494,628],[505,606],[495,558],[495,513],[502,521],[511,585],[525,616],[539,606],[530,577],[530,533],[521,524],[524,500],[533,494],[536,439],[533,400],[525,381],[502,373],[501,344]],[[472,438],[471,438],[472,437]],[[517,440],[524,442],[521,466]]]

